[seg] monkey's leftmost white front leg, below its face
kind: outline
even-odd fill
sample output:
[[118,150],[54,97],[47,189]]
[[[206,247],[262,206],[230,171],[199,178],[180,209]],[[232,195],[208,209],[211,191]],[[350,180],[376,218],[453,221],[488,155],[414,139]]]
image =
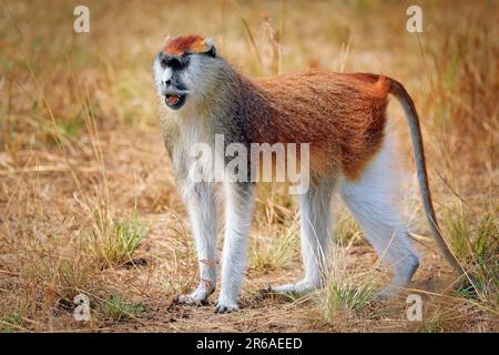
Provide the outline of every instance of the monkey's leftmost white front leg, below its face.
[[189,294],[179,296],[179,303],[200,305],[216,286],[216,201],[213,183],[185,185],[191,227],[197,250],[200,284]]

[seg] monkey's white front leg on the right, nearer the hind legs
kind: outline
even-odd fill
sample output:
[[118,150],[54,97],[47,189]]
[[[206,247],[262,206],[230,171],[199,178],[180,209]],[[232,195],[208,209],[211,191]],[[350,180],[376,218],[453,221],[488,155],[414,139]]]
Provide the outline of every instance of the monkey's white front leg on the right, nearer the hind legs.
[[237,296],[246,266],[247,233],[253,214],[253,183],[225,183],[226,211],[222,286],[216,313],[238,310]]

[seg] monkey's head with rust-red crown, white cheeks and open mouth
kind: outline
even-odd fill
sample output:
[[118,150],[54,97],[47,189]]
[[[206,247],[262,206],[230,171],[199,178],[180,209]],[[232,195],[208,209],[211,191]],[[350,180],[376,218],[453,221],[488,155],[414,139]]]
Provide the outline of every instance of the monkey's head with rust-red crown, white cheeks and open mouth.
[[210,38],[181,36],[167,40],[153,64],[154,82],[164,104],[179,110],[187,102],[206,99],[217,84],[223,63]]

